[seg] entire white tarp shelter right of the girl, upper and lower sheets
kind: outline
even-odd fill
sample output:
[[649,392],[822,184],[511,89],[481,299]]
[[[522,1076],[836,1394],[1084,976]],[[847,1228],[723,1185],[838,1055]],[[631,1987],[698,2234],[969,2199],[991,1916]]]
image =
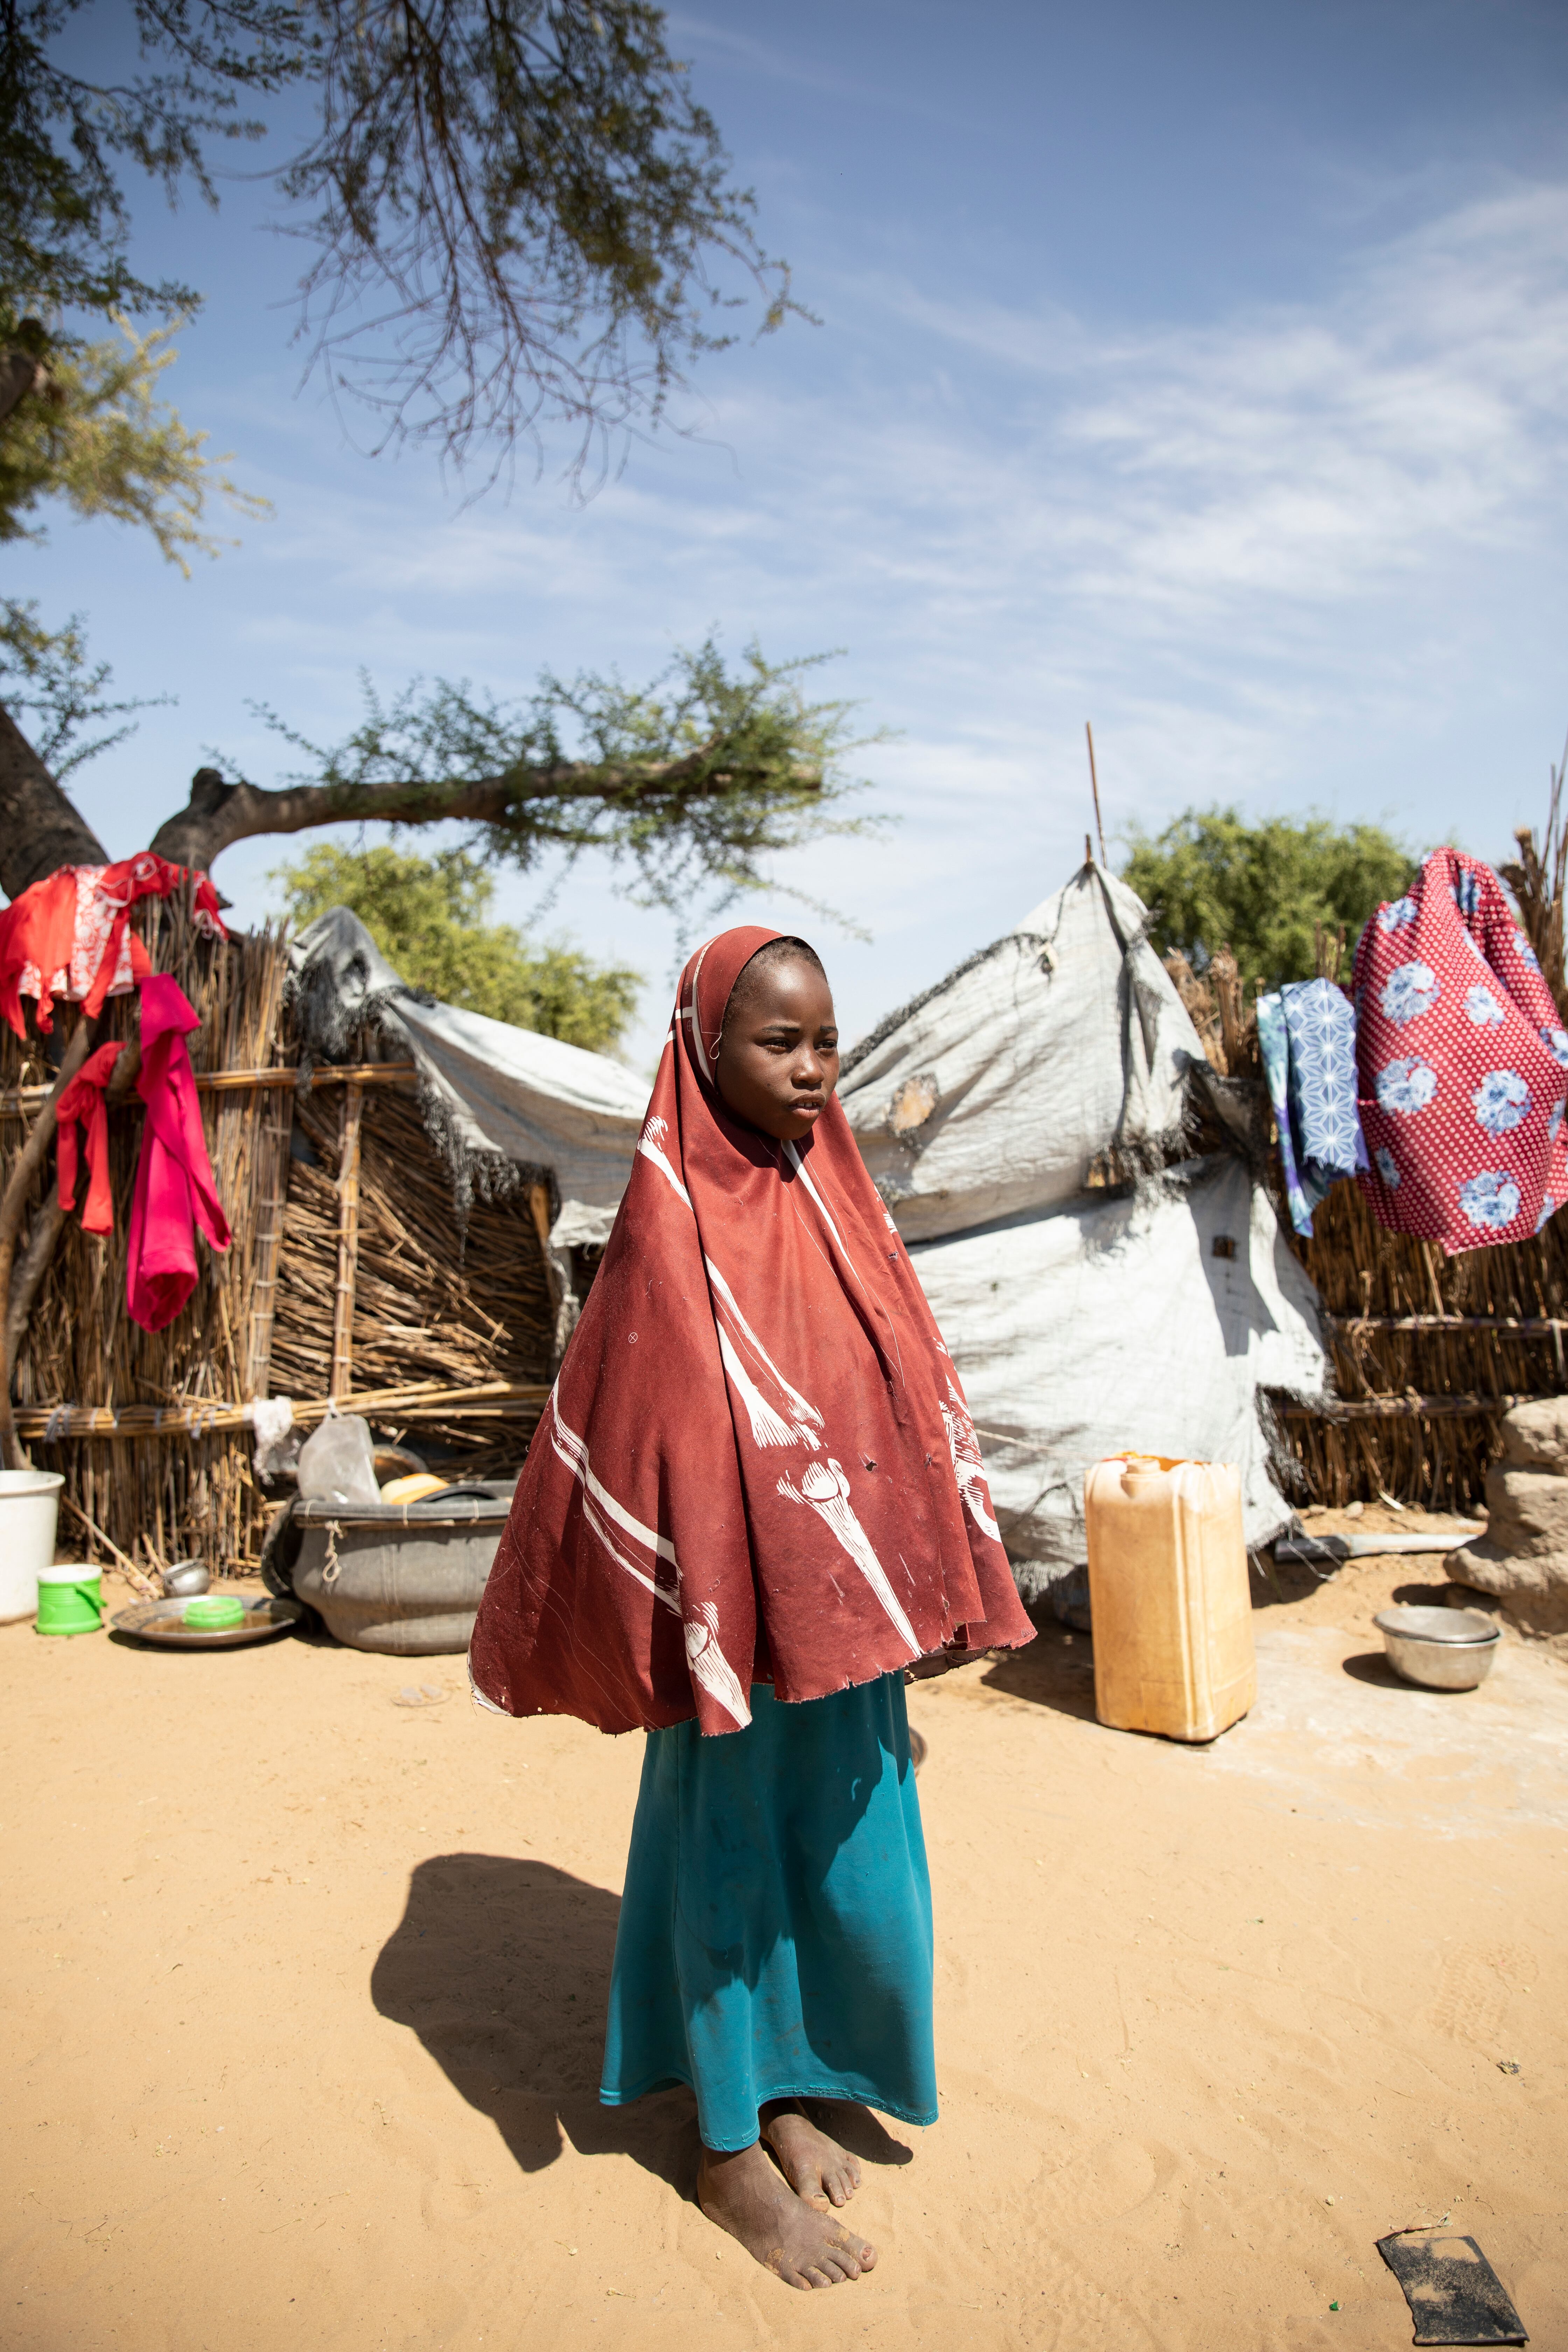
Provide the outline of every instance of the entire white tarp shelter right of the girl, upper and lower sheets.
[[[1164,1167],[1206,1063],[1145,927],[1084,866],[872,1030],[839,1084],[964,1376],[1025,1597],[1084,1564],[1084,1470],[1126,1446],[1237,1463],[1267,1543],[1291,1508],[1258,1390],[1326,1390],[1316,1294],[1267,1192],[1227,1155]],[[1091,1183],[1112,1150],[1150,1174]]]

